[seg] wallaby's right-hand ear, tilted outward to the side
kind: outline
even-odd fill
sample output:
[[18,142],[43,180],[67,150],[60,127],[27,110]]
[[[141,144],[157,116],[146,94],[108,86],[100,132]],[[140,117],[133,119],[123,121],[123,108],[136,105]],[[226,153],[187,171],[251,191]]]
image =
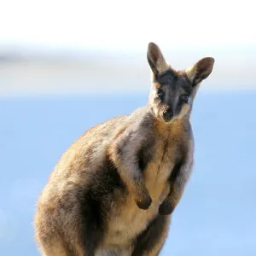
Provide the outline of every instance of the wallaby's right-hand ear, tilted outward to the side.
[[206,57],[186,69],[187,76],[193,86],[199,84],[203,79],[207,79],[210,73],[212,73],[213,64],[214,59],[212,57]]

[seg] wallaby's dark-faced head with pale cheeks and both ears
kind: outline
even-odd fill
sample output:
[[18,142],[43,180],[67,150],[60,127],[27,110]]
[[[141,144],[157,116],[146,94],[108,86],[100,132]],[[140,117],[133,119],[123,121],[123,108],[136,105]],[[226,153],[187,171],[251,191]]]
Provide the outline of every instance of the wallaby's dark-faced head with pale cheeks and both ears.
[[149,104],[155,117],[168,124],[189,116],[201,81],[212,73],[214,59],[206,57],[186,70],[176,71],[154,43],[148,44],[147,57],[152,71]]

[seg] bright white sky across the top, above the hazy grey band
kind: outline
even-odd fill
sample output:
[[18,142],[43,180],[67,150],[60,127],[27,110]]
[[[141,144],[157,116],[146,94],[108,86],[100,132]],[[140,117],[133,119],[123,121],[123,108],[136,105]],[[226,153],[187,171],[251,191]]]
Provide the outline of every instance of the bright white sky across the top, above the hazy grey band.
[[256,45],[255,1],[0,0],[0,46]]

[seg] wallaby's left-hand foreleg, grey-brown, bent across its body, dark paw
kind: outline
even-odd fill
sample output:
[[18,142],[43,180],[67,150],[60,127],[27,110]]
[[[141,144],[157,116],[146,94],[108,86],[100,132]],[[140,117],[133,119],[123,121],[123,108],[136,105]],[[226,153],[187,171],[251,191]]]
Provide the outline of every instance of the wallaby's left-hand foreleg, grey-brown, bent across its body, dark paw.
[[143,181],[143,172],[138,165],[137,153],[142,147],[143,138],[126,134],[119,137],[110,148],[111,159],[128,191],[134,196],[137,206],[148,209],[152,199]]

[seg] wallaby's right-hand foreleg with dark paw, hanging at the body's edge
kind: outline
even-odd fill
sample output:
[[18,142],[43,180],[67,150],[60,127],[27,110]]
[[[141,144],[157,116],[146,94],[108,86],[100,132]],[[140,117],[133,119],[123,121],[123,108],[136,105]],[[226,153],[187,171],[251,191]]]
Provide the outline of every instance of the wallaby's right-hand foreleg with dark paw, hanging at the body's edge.
[[166,199],[160,204],[159,214],[171,214],[177,207],[180,201],[186,183],[189,180],[190,172],[192,169],[192,160],[187,161],[182,165],[177,165],[170,177],[170,191]]

